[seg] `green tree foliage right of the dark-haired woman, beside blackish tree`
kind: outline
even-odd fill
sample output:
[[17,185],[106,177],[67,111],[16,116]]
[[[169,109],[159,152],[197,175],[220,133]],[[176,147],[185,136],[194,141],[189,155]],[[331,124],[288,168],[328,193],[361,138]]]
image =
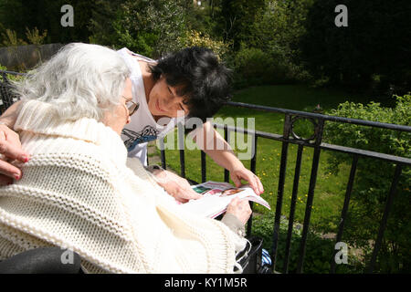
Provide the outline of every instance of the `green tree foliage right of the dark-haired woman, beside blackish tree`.
[[[229,7],[237,10],[226,16],[226,24],[235,24],[238,17],[248,18],[240,27],[226,28],[227,37],[239,42],[239,47],[233,47],[237,51],[232,62],[237,87],[308,80],[308,73],[299,63],[298,42],[305,32],[302,23],[312,0],[265,0],[251,7],[236,3],[230,2]],[[245,12],[237,12],[240,9]]]

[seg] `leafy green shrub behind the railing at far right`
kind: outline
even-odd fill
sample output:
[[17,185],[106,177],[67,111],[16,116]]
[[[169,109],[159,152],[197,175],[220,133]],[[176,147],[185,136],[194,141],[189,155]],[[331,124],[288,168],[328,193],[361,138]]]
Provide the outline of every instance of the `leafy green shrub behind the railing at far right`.
[[[330,114],[361,120],[411,125],[411,96],[396,97],[395,108],[382,108],[379,103],[345,102]],[[411,158],[411,133],[398,130],[376,129],[352,124],[330,123],[325,128],[326,141],[367,151],[377,151]],[[333,152],[330,158],[332,172],[338,172],[342,163],[352,158]],[[376,159],[360,158],[358,161],[352,201],[347,224],[346,241],[363,247],[370,258],[372,245],[385,208],[387,194],[394,176],[395,165]],[[409,272],[411,270],[411,171],[404,167],[396,188],[395,200],[388,217],[384,240],[377,258],[376,271],[383,273]]]

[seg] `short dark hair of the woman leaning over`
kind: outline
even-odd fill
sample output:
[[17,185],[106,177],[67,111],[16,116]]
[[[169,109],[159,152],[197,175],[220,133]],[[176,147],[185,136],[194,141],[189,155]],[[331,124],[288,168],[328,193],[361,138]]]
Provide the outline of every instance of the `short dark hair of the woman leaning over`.
[[231,97],[231,70],[211,49],[186,47],[161,58],[150,69],[154,80],[163,74],[168,85],[177,87],[177,95],[186,97],[188,117],[204,122]]

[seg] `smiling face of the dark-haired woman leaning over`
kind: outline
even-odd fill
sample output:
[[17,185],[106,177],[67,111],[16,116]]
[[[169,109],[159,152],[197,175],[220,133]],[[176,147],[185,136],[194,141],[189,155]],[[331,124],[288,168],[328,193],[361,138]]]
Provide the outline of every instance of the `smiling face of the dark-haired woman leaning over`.
[[176,118],[188,114],[183,101],[184,97],[177,96],[176,88],[169,86],[162,75],[150,91],[148,107],[153,116]]

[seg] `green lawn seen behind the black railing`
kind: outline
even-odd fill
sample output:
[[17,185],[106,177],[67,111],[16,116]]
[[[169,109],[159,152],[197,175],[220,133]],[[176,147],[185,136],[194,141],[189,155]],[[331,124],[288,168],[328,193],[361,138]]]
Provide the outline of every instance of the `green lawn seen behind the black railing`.
[[[305,86],[263,86],[253,87],[236,92],[234,101],[271,106],[290,110],[313,110],[317,104],[323,110],[336,108],[345,100],[366,103],[369,100],[360,96],[350,96],[338,90],[311,89]],[[255,118],[256,130],[272,133],[282,133],[284,116],[271,114],[257,110],[237,109],[224,107],[216,117],[244,117]],[[247,126],[247,121],[246,121]],[[221,132],[222,133],[222,132]],[[247,142],[247,139],[246,139]],[[310,183],[312,149],[304,148],[300,171],[300,186],[296,206],[295,220],[302,223],[305,213],[305,203]],[[279,159],[281,143],[267,139],[258,139],[257,174],[264,185],[265,193],[262,196],[270,203],[272,212],[275,211],[278,183],[279,183]],[[284,201],[282,214],[289,217],[290,198],[292,193],[297,146],[290,145],[287,162],[287,176],[284,188]],[[311,211],[311,226],[321,232],[336,232],[336,226],[341,214],[345,187],[348,181],[349,166],[343,166],[338,175],[327,171],[326,151],[321,152],[320,168],[317,176],[317,184],[314,194],[314,203]],[[166,151],[168,167],[179,172],[179,151]],[[250,162],[243,161],[249,168]],[[187,177],[201,182],[200,151],[185,151],[185,167]],[[206,179],[224,181],[224,170],[207,157]],[[267,209],[255,205],[256,213],[267,213]]]

